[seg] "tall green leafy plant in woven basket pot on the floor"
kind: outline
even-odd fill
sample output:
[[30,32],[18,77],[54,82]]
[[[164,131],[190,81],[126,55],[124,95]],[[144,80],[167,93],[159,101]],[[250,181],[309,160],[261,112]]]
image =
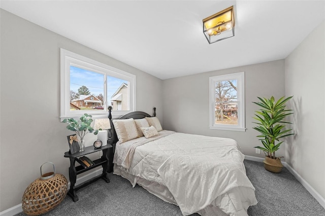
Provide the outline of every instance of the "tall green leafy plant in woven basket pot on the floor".
[[263,147],[257,146],[254,148],[264,151],[264,167],[271,172],[280,172],[283,167],[281,157],[275,156],[275,152],[283,142],[279,139],[294,134],[290,133],[292,129],[284,128],[286,124],[291,124],[290,122],[285,122],[284,118],[293,114],[292,110],[285,110],[285,103],[292,97],[281,97],[278,101],[275,101],[273,96],[270,99],[257,97],[260,101],[253,102],[262,107],[258,111],[255,111],[255,117],[253,119],[258,122],[253,122],[257,124],[253,129],[261,133],[261,135],[256,137],[259,137],[259,140],[263,144]]

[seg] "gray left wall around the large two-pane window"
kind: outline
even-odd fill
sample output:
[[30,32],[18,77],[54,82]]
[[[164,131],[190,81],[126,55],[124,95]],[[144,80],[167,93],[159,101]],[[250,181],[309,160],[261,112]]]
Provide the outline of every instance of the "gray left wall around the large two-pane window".
[[136,75],[137,110],[152,114],[156,106],[163,124],[161,80],[1,10],[0,211],[21,203],[44,162],[69,181],[63,154],[72,133],[59,120],[60,48]]

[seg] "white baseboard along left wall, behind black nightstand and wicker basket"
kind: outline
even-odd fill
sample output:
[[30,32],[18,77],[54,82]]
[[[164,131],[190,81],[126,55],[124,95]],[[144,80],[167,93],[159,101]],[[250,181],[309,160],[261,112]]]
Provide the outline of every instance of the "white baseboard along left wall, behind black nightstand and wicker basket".
[[[96,169],[96,170],[94,170],[92,172],[89,172],[88,174],[77,178],[76,186],[78,186],[80,183],[86,182],[90,178],[98,176],[98,175],[100,175],[102,173],[103,173],[103,168]],[[68,190],[69,189],[70,189],[70,182],[68,183]],[[1,211],[0,215],[1,216],[13,216],[13,215],[18,214],[20,212],[22,212],[22,204],[21,203],[18,204],[18,205],[15,205],[14,207],[8,208],[8,209],[6,209],[4,211]]]

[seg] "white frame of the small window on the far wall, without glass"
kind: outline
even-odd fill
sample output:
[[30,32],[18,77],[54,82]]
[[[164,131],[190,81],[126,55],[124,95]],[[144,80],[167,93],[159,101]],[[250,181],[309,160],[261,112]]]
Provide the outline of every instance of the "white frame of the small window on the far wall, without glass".
[[[238,125],[215,124],[215,83],[226,80],[237,80]],[[245,131],[245,73],[209,77],[209,104],[210,129]]]

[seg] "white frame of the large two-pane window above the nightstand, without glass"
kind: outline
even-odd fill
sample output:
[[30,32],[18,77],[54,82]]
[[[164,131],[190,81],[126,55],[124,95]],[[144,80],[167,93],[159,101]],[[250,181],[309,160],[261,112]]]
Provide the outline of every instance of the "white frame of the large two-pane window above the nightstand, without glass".
[[[92,60],[82,55],[73,53],[71,51],[60,49],[60,120],[66,118],[80,118],[87,113],[94,118],[102,118],[108,116],[107,97],[107,76],[119,78],[129,82],[129,111],[112,111],[115,118],[125,115],[129,112],[136,111],[136,76],[129,74],[126,71],[117,69],[99,61]],[[70,111],[70,66],[76,66],[86,70],[94,71],[104,75],[104,110],[80,110]],[[109,100],[109,99],[107,99]]]

